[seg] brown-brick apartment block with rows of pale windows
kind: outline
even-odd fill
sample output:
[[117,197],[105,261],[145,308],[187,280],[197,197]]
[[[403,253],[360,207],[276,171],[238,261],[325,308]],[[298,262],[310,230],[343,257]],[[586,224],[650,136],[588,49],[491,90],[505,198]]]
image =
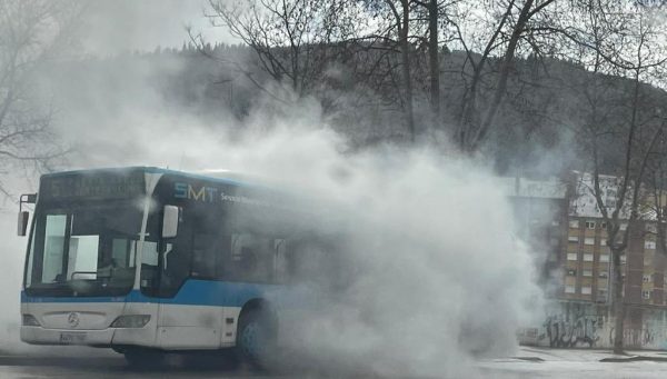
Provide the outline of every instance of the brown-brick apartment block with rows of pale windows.
[[[565,300],[608,303],[611,296],[613,256],[607,246],[607,225],[593,196],[593,178],[575,173],[570,193],[567,240],[564,243],[563,292]],[[600,176],[601,199],[611,212],[616,207],[618,179]],[[628,247],[620,257],[624,299],[628,305],[664,306],[665,256],[658,250],[656,221],[650,216],[631,225],[621,212],[620,233],[628,231]],[[618,236],[618,237],[621,237]]]

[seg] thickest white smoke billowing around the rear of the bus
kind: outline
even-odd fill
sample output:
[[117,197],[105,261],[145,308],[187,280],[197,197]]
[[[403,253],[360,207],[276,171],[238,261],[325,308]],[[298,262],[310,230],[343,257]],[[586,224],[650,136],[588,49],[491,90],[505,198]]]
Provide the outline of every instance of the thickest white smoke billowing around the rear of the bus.
[[351,223],[360,276],[301,323],[303,350],[336,367],[435,376],[461,375],[474,353],[510,355],[541,297],[491,172],[434,147],[346,154],[316,111],[292,114],[218,141],[212,156],[330,199]]

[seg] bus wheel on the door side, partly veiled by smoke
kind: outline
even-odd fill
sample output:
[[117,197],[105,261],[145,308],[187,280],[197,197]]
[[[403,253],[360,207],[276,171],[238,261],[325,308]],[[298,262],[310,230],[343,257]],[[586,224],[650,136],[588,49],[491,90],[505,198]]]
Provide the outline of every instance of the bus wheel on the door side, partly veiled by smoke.
[[258,369],[267,369],[275,353],[276,328],[271,317],[261,310],[241,313],[237,330],[237,356]]

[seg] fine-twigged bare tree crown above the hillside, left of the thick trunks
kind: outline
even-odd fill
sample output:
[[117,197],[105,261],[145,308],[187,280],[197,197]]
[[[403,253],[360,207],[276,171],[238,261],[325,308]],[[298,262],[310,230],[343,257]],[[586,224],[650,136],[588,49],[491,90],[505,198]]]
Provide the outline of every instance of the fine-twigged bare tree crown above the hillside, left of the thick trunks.
[[[346,0],[209,0],[211,23],[226,28],[249,46],[261,70],[278,82],[288,83],[298,96],[308,94],[319,84],[322,72],[341,54],[336,46],[350,38],[354,7]],[[201,36],[192,36],[205,47]],[[247,62],[233,62],[251,81]]]

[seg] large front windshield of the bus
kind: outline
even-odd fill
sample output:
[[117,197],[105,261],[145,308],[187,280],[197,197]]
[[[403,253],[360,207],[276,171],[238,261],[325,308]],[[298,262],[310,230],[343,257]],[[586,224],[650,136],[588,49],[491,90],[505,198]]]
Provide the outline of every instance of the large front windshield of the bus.
[[135,281],[141,207],[129,200],[69,205],[46,205],[36,213],[26,266],[27,293],[129,292]]

